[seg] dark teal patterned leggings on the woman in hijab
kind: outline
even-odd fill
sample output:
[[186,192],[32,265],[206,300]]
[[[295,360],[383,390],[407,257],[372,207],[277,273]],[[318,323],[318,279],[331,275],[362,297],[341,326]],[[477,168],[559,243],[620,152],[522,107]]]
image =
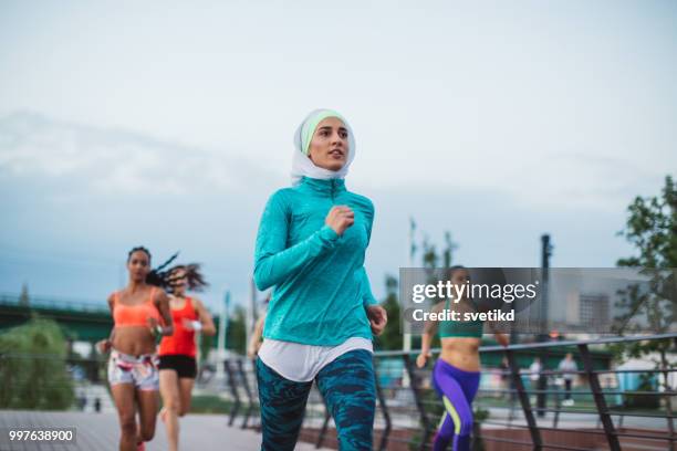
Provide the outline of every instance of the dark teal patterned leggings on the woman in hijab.
[[[261,451],[293,451],[313,385],[285,379],[257,358]],[[336,424],[341,451],[371,451],[376,409],[372,353],[356,349],[322,368],[317,388]]]

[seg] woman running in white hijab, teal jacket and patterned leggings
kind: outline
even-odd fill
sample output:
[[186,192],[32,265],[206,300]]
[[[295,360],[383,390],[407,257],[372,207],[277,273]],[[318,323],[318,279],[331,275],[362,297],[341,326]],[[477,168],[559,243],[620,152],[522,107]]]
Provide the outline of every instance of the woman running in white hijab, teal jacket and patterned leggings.
[[372,450],[372,334],[387,317],[364,270],[374,206],[345,188],[347,122],[311,113],[295,134],[292,185],[274,192],[257,237],[254,282],[274,286],[257,359],[261,450],[293,450],[313,380],[341,450]]

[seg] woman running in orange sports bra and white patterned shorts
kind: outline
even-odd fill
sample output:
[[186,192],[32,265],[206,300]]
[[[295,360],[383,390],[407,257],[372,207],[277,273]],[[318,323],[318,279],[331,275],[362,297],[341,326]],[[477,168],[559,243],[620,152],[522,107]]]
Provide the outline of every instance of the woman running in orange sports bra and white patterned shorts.
[[166,273],[159,272],[168,263],[152,271],[150,252],[132,249],[127,256],[129,282],[108,296],[114,327],[111,338],[98,345],[102,352],[111,350],[108,382],[119,418],[122,451],[144,450],[144,442],[155,436],[159,389],[156,337],[174,332],[169,298],[162,289]]

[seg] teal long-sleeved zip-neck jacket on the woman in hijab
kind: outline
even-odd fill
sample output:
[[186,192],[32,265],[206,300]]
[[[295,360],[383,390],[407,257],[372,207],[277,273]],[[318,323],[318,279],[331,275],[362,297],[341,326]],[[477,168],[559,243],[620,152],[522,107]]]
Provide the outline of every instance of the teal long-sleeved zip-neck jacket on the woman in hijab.
[[[324,223],[334,206],[347,206],[355,223],[342,237]],[[254,262],[259,290],[274,286],[263,337],[336,346],[372,339],[365,307],[377,304],[364,270],[374,204],[345,189],[342,179],[303,177],[274,192],[265,206]]]

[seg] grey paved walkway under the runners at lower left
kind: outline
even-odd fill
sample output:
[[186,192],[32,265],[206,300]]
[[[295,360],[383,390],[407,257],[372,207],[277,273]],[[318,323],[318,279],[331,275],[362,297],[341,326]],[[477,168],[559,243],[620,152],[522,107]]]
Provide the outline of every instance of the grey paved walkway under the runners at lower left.
[[[181,445],[199,451],[253,451],[261,445],[261,436],[251,430],[228,427],[222,415],[189,415],[181,419]],[[10,443],[10,428],[76,428],[76,443]],[[117,451],[118,426],[115,413],[42,412],[0,410],[0,451]],[[147,451],[165,451],[165,426],[158,420],[155,439],[146,443]],[[315,450],[301,443],[298,451]]]

